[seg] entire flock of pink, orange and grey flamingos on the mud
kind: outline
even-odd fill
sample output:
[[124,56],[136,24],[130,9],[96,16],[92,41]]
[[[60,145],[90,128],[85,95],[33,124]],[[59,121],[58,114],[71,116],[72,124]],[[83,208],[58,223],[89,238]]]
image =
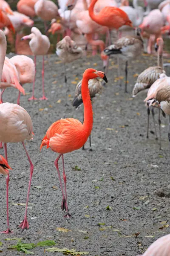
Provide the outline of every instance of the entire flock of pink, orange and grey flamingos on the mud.
[[[106,75],[110,56],[116,55],[117,57],[118,77],[120,77],[119,58],[125,62],[125,93],[127,93],[128,63],[139,58],[144,50],[147,51],[147,54],[157,55],[157,66],[141,70],[142,73],[139,74],[137,81],[134,81],[132,95],[137,100],[137,95],[141,91],[148,90],[144,99],[147,108],[146,137],[149,137],[149,117],[150,108],[152,108],[155,135],[158,140],[154,112],[154,109],[157,108],[159,111],[159,148],[161,150],[160,113],[163,116],[169,116],[170,125],[170,77],[166,75],[163,61],[163,38],[170,32],[170,1],[143,0],[141,1],[142,5],[139,5],[139,2],[133,0],[133,6],[130,6],[129,0],[58,0],[58,8],[51,0],[19,0],[17,12],[13,12],[5,0],[0,0],[0,148],[4,147],[5,152],[5,157],[0,154],[0,173],[6,176],[7,218],[7,228],[1,233],[13,233],[10,228],[8,209],[9,175],[10,172],[13,172],[8,164],[8,143],[22,143],[30,164],[26,212],[23,221],[18,225],[22,231],[29,229],[27,209],[34,165],[24,141],[33,140],[34,132],[31,116],[20,106],[20,96],[22,93],[26,99],[23,85],[33,83],[32,96],[28,101],[38,100],[34,95],[36,56],[42,55],[42,97],[40,100],[48,100],[45,96],[48,86],[48,84],[45,85],[45,55],[48,55],[51,50],[50,33],[59,35],[56,41],[56,54],[64,65],[65,87],[68,87],[66,64],[71,65],[72,62],[80,58],[86,58],[87,52],[90,51],[89,46],[92,49],[92,56],[99,52],[104,70],[103,72],[88,67],[84,70],[82,80],[75,88],[72,106],[78,109],[80,105],[84,105],[83,121],[80,122],[74,118],[60,119],[52,123],[49,128],[46,127],[46,134],[42,134],[40,150],[46,146],[58,154],[54,166],[57,169],[62,192],[61,208],[65,212],[64,217],[71,218],[68,209],[64,154],[80,148],[85,149],[84,145],[88,138],[90,151],[92,151],[92,102],[94,98],[97,99],[97,95],[102,93],[103,85],[108,82]],[[39,17],[44,23],[45,35],[34,26],[34,17]],[[30,27],[29,35],[23,32],[25,27]],[[116,38],[113,34],[116,35]],[[81,44],[80,38],[82,39]],[[15,45],[16,55],[12,58],[6,56],[7,41],[9,44]],[[34,61],[25,55],[24,47],[23,49],[18,48],[21,43],[26,43],[28,53],[34,55]],[[18,51],[24,53],[17,55]],[[101,82],[102,80],[104,83]],[[5,90],[10,90],[10,87],[19,91],[17,104],[5,102],[3,93]],[[170,141],[170,128],[168,140]],[[58,164],[60,159],[62,159],[62,177]],[[170,247],[167,245],[169,237],[170,235],[163,236],[155,241],[143,256],[169,256]]]

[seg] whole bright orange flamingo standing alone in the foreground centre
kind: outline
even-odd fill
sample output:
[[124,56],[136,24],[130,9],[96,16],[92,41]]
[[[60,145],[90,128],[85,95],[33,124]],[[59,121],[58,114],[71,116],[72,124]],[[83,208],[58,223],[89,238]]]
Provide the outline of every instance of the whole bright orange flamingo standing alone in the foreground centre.
[[[53,151],[59,153],[59,156],[55,160],[54,164],[56,166],[59,182],[62,190],[62,211],[66,211],[66,218],[71,215],[68,212],[67,205],[67,191],[66,191],[66,176],[64,169],[64,157],[63,154],[82,148],[82,146],[88,140],[91,134],[93,126],[93,110],[91,105],[91,97],[88,89],[88,81],[96,77],[101,77],[103,80],[108,82],[105,73],[102,71],[97,71],[95,69],[89,68],[85,70],[82,79],[82,101],[84,104],[84,122],[83,124],[74,118],[65,118],[54,122],[47,130],[45,137],[42,140],[40,150],[42,146],[47,145],[47,148],[51,148]],[[59,158],[62,156],[62,166],[63,166],[63,179],[65,187],[65,195],[62,187],[62,181],[58,168]]]

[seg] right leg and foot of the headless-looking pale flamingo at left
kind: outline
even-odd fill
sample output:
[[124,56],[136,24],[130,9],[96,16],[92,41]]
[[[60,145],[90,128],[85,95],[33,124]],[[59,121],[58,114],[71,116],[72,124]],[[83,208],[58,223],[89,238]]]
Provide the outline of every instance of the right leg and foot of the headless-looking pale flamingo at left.
[[27,193],[27,201],[26,201],[26,213],[25,213],[23,221],[18,226],[18,228],[22,228],[22,232],[23,232],[23,230],[25,230],[25,229],[28,230],[28,228],[29,228],[29,224],[28,224],[28,220],[27,220],[27,209],[28,209],[29,192],[30,192],[30,187],[31,187],[31,179],[32,179],[33,171],[34,171],[34,166],[33,166],[33,163],[31,162],[30,157],[29,157],[28,151],[26,150],[26,145],[24,144],[24,142],[22,142],[22,144],[23,144],[23,147],[26,151],[28,161],[30,163],[30,177],[29,177],[29,185],[28,185],[28,193]]

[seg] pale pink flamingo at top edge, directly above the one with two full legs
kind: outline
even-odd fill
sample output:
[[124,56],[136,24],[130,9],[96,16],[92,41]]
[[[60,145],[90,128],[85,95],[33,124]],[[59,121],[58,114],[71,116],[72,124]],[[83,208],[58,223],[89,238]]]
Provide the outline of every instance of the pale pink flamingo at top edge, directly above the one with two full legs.
[[51,0],[38,0],[34,5],[34,10],[36,15],[43,20],[45,31],[47,31],[46,21],[55,19],[58,16],[58,7]]

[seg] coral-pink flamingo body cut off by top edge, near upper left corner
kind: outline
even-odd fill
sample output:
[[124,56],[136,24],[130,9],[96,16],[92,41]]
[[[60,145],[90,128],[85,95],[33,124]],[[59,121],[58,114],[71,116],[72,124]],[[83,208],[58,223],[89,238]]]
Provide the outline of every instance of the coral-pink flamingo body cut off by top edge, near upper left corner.
[[19,0],[17,3],[17,10],[20,13],[25,14],[28,17],[34,17],[36,15],[34,11],[34,5],[38,0]]

